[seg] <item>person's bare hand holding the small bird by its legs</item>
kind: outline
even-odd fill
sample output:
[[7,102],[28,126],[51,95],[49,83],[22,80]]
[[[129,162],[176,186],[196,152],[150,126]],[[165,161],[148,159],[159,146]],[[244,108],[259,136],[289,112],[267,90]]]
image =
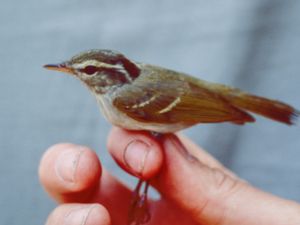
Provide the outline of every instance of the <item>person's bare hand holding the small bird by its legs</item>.
[[[148,224],[300,224],[297,203],[252,187],[185,137],[168,134],[158,142],[145,132],[114,128],[108,149],[121,168],[151,178],[160,193],[160,200],[149,200]],[[51,147],[39,175],[60,203],[47,225],[126,224],[131,190],[102,168],[87,147]]]

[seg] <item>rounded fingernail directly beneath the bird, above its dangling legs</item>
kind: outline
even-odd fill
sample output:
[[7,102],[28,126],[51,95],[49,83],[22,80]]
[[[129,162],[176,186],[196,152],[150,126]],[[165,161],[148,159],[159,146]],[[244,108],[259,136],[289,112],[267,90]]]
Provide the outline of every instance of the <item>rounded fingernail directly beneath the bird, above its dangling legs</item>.
[[134,140],[130,142],[124,151],[124,161],[126,165],[141,175],[143,173],[145,162],[149,154],[150,145],[147,143]]

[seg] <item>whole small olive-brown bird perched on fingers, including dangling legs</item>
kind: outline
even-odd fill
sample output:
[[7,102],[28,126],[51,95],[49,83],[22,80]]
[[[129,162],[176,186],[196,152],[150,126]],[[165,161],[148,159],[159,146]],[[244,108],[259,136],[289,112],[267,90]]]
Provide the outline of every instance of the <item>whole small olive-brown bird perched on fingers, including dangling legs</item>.
[[[78,78],[96,97],[111,124],[154,135],[174,133],[202,123],[253,123],[252,113],[293,125],[300,115],[299,110],[281,101],[136,62],[113,50],[88,50],[44,67]],[[148,215],[139,214],[139,210],[147,214],[148,181],[144,192],[139,194],[142,182],[139,181],[134,191],[130,214],[137,215],[129,215],[129,224],[134,220],[138,220],[135,224],[149,220]]]

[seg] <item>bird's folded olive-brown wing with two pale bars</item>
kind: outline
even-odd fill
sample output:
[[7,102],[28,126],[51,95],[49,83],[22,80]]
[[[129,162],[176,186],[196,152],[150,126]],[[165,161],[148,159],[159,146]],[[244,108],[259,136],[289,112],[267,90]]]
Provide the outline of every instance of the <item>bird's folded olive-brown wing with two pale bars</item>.
[[144,123],[252,122],[248,113],[235,108],[220,95],[189,82],[144,82],[120,91],[113,105]]

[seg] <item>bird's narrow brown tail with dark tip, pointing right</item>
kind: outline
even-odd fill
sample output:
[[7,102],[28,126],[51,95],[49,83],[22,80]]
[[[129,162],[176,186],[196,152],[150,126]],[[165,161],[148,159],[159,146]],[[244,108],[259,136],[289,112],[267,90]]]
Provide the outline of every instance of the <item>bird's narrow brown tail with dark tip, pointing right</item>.
[[298,110],[286,103],[246,93],[230,95],[230,102],[238,108],[288,125],[296,124],[300,116]]

